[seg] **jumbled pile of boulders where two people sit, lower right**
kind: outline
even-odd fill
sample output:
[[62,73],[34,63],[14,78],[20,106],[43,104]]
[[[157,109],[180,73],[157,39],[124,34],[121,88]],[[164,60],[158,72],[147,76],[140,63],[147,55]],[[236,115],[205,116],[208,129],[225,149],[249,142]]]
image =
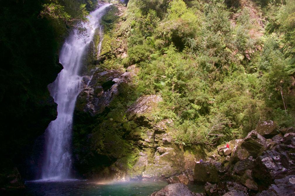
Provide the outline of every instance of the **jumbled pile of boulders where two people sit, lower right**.
[[[207,161],[196,164],[195,182],[206,182],[209,196],[294,195],[293,130],[278,129],[272,121],[260,122],[244,139],[235,141],[232,148],[221,145],[208,153]],[[217,163],[225,166],[222,172]]]

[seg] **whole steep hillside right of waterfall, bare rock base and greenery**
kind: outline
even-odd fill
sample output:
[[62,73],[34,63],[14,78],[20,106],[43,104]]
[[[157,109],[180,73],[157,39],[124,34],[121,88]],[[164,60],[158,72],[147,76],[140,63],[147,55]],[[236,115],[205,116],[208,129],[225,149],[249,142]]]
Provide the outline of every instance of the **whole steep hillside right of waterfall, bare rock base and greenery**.
[[[277,11],[267,6],[278,5],[131,0],[127,8],[111,6],[101,55],[91,56],[96,69],[89,69],[76,104],[78,174],[169,178],[193,170],[211,147],[246,136],[260,121],[294,126],[294,53],[284,50],[283,29],[264,30]],[[294,4],[277,9],[291,17],[288,6]]]

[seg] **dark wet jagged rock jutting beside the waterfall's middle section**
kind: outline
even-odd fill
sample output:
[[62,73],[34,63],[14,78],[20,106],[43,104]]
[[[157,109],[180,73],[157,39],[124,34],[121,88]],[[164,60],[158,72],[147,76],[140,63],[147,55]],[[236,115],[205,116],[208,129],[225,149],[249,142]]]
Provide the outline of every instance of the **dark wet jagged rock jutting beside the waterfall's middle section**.
[[91,79],[84,78],[84,89],[77,97],[77,111],[89,112],[92,116],[101,113],[118,94],[123,84],[130,82],[128,72],[97,70]]

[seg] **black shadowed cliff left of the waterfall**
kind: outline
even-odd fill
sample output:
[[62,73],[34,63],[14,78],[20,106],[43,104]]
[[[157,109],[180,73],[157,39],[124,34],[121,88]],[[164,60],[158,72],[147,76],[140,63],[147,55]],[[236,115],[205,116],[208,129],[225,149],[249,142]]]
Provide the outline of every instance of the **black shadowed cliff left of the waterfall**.
[[23,187],[25,157],[56,118],[47,85],[62,69],[58,42],[41,1],[0,3],[0,188]]

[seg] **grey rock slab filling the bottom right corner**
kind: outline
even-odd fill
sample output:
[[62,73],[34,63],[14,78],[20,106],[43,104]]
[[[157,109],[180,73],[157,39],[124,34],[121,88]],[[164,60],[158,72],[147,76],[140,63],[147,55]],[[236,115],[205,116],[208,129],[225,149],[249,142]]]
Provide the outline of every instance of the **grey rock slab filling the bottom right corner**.
[[295,175],[289,175],[274,181],[267,190],[258,193],[257,196],[294,196]]

